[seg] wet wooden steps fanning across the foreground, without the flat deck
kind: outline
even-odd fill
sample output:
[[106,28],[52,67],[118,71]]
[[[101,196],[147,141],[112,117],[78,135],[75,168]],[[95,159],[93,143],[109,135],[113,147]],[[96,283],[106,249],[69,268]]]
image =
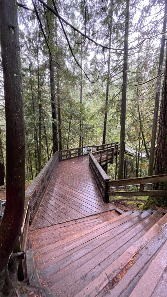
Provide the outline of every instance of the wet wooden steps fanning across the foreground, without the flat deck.
[[59,297],[163,297],[167,214],[108,211],[30,232],[40,277]]

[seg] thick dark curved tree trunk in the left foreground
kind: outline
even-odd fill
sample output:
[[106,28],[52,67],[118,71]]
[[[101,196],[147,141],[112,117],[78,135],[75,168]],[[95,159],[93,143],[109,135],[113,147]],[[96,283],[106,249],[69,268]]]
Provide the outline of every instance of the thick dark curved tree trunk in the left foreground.
[[[21,230],[25,193],[25,137],[17,1],[0,0],[0,42],[6,116],[6,207],[0,226],[0,292],[13,293],[8,262]],[[12,146],[12,150],[11,150]]]

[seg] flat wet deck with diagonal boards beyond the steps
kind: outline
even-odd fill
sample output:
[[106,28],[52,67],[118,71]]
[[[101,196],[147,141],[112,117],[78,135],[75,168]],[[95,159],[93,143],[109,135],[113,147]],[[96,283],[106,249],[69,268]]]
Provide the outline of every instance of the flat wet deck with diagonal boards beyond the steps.
[[89,156],[59,162],[30,230],[113,210],[103,202]]

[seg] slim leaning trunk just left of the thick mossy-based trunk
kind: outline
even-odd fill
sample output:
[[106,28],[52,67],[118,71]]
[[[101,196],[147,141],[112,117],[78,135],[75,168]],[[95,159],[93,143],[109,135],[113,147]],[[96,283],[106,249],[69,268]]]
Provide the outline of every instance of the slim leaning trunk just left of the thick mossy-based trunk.
[[[163,29],[162,29],[163,32],[166,31],[166,15],[167,15],[167,1],[165,2]],[[160,58],[159,58],[159,66],[158,66],[158,75],[160,75],[161,72],[162,72],[164,48],[165,48],[165,35],[162,35],[161,45],[160,45]],[[153,117],[153,125],[152,125],[152,136],[151,136],[151,147],[150,147],[150,156],[149,156],[148,176],[153,175],[153,169],[154,169],[154,153],[155,153],[155,141],[156,141],[156,134],[157,134],[157,120],[158,120],[158,109],[159,109],[159,101],[160,101],[161,77],[162,76],[160,76],[157,79],[157,85],[156,85],[155,107],[154,107],[154,117]]]

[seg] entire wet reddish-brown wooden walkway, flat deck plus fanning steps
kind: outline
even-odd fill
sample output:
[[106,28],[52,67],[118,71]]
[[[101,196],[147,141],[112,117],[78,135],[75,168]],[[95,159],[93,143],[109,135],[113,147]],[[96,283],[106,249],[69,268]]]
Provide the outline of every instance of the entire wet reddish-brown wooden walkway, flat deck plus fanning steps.
[[118,214],[88,154],[58,162],[28,236],[52,297],[166,296],[167,214]]

